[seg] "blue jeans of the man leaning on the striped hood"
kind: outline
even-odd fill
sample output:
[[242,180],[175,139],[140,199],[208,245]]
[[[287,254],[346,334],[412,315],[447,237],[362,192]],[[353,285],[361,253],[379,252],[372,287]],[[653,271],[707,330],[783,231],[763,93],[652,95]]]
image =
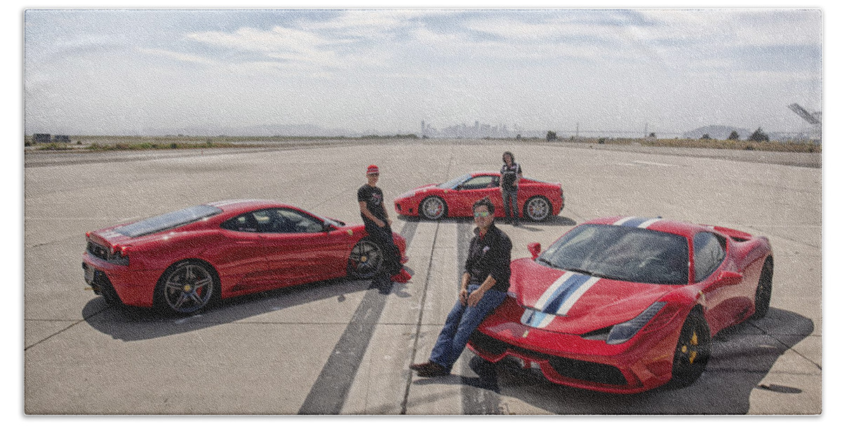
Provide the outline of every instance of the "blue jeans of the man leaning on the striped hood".
[[[477,288],[479,286],[476,284],[468,286],[468,293],[474,292]],[[462,354],[462,350],[465,350],[465,345],[473,331],[505,299],[506,293],[488,290],[482,295],[482,299],[477,303],[477,306],[474,307],[469,307],[467,304],[463,305],[457,300],[456,305],[447,315],[445,327],[441,329],[439,339],[435,341],[429,360],[450,371],[456,360],[459,359],[459,355]]]

